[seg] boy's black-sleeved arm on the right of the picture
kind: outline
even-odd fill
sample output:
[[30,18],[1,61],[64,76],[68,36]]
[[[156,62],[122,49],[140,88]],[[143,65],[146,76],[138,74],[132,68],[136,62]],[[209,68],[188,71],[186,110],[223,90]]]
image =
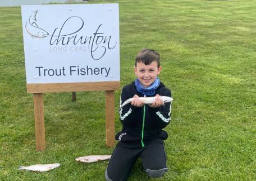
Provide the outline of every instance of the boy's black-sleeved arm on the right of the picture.
[[[166,89],[160,96],[171,97],[171,90]],[[164,103],[164,106],[152,108],[149,107],[150,116],[154,121],[154,126],[164,128],[171,121],[171,102]]]

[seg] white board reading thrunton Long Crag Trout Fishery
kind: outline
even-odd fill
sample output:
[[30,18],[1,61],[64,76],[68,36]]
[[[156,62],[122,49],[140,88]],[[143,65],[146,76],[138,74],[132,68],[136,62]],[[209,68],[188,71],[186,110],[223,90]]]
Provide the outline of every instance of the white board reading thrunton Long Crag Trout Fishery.
[[118,4],[21,6],[27,83],[120,80]]

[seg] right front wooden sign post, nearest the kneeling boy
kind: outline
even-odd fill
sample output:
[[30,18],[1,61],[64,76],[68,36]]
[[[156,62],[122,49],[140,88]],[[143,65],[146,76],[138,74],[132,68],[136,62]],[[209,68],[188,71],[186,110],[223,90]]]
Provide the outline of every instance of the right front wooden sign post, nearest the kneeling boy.
[[115,91],[106,91],[106,145],[115,145]]

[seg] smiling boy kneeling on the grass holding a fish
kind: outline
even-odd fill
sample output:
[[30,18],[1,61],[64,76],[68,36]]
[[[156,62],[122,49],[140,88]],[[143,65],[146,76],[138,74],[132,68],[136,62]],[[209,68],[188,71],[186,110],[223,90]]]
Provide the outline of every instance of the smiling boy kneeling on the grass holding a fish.
[[[167,172],[163,140],[168,135],[162,128],[171,120],[171,103],[163,104],[159,95],[171,97],[171,90],[157,78],[162,70],[159,59],[159,54],[149,49],[136,57],[137,79],[122,89],[120,106],[131,97],[134,100],[120,109],[122,131],[116,134],[119,142],[109,160],[106,180],[127,180],[138,158],[150,177],[162,177]],[[156,101],[143,104],[138,97],[156,97]]]

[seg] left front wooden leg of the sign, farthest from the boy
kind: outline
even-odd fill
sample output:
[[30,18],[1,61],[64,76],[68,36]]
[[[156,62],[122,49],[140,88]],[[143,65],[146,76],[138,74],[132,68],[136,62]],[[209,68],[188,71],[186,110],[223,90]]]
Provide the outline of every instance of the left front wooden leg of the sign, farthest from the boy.
[[34,93],[36,151],[45,150],[44,99],[43,93]]

